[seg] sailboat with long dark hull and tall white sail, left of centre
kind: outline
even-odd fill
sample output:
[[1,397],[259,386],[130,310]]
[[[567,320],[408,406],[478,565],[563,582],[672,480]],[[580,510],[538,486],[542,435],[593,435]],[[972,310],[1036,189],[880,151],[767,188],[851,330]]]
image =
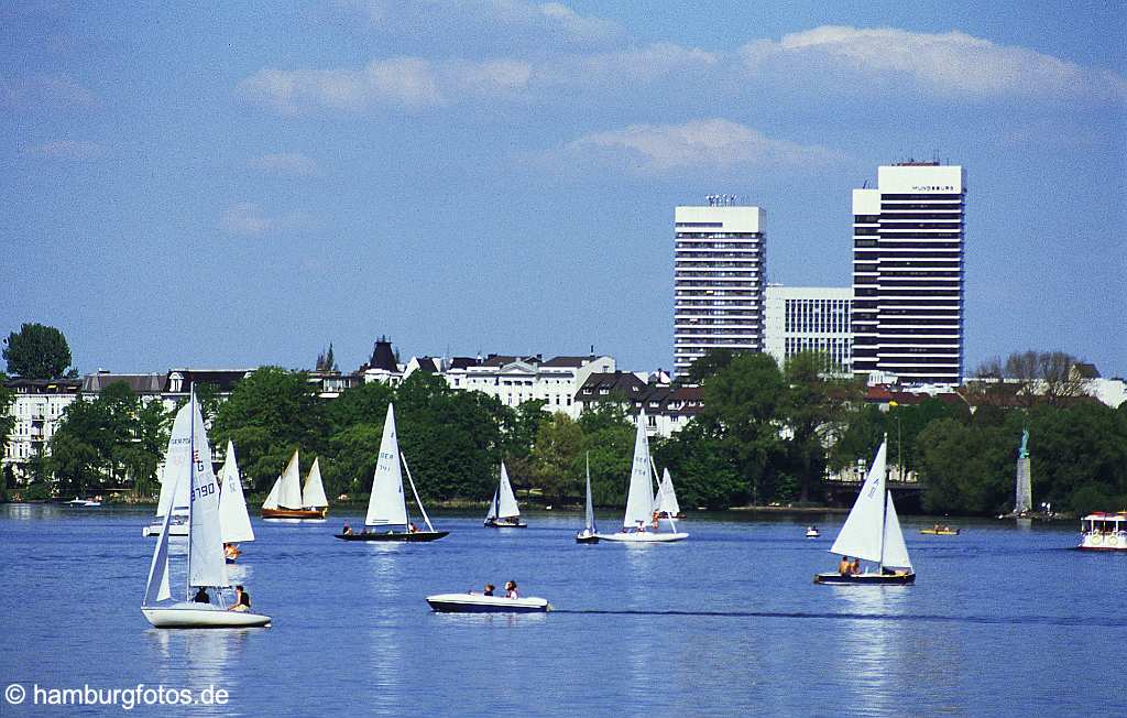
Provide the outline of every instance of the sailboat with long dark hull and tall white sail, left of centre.
[[[415,528],[407,516],[407,499],[403,497],[403,473],[400,469],[407,469],[407,480],[411,485],[411,493],[415,495],[415,503],[423,514],[429,531],[421,531]],[[374,526],[387,531],[373,531]],[[401,530],[397,530],[402,526]],[[396,437],[396,411],[392,405],[388,405],[388,416],[383,420],[383,437],[380,440],[380,459],[375,464],[375,475],[372,477],[372,495],[367,502],[367,516],[364,518],[364,531],[354,533],[346,530],[338,533],[338,539],[345,541],[437,541],[450,534],[449,531],[435,531],[431,517],[427,516],[426,508],[419,499],[419,493],[415,488],[415,480],[411,478],[411,469],[407,466],[407,459],[399,451],[399,441]]]

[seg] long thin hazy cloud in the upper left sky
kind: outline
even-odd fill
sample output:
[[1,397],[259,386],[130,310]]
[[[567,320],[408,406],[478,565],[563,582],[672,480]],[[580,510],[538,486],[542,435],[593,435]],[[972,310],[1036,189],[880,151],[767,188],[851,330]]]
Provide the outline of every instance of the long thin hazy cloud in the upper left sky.
[[513,61],[391,57],[360,70],[260,70],[239,83],[239,92],[287,114],[314,108],[361,112],[374,105],[418,110],[465,95],[517,90],[531,74],[529,65]]

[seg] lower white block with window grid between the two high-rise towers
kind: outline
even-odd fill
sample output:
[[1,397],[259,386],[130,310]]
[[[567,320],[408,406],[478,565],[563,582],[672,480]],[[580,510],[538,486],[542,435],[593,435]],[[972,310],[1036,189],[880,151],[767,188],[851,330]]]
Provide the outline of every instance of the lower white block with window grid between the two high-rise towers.
[[767,285],[763,351],[786,365],[799,352],[823,352],[833,366],[851,373],[853,290],[836,286]]

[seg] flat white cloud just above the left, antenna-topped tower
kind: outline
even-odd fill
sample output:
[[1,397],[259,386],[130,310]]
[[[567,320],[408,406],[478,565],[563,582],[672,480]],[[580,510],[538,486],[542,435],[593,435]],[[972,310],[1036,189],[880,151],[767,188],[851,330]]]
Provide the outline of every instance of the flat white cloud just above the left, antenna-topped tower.
[[642,174],[735,166],[779,166],[837,161],[842,156],[818,145],[775,140],[728,119],[693,119],[681,125],[630,125],[596,132],[558,152],[569,159],[618,162]]

